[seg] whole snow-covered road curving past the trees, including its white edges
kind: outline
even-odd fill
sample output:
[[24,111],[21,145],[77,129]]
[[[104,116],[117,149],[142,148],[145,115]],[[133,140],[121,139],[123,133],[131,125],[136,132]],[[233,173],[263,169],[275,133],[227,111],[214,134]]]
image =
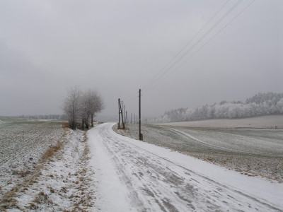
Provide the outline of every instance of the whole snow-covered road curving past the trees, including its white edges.
[[283,184],[116,134],[88,131],[102,211],[282,211]]

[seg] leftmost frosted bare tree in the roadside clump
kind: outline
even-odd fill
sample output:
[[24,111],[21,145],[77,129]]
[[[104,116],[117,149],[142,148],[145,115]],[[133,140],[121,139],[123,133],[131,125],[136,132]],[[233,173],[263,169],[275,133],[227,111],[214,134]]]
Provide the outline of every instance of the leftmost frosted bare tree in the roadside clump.
[[79,86],[74,86],[68,90],[67,98],[63,102],[63,110],[67,115],[71,129],[76,129],[81,114],[81,90],[79,90]]

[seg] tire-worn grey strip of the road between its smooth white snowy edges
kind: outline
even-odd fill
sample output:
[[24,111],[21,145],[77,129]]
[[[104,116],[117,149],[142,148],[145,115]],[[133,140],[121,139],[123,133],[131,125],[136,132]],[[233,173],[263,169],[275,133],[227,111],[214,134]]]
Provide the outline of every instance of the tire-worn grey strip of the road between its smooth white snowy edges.
[[137,211],[279,211],[130,143],[112,125],[98,126],[100,138]]

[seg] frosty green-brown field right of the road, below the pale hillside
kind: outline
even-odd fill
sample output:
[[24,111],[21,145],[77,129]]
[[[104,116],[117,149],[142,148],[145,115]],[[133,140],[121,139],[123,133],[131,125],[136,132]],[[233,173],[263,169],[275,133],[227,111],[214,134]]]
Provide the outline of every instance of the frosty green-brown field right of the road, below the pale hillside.
[[[141,131],[147,143],[223,165],[243,175],[283,180],[282,129],[143,125]],[[119,133],[137,139],[138,125],[127,124],[127,130]]]

